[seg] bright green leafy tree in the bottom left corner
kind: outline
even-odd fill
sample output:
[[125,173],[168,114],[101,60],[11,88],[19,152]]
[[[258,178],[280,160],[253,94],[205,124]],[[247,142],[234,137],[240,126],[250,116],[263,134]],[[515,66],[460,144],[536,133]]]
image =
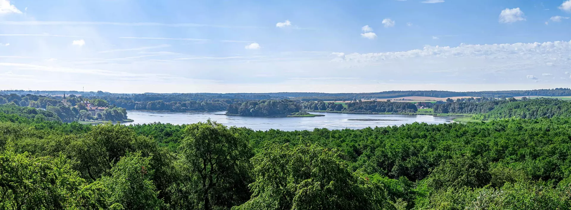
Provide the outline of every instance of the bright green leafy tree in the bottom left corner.
[[0,152],[0,209],[66,209],[84,183],[63,156]]

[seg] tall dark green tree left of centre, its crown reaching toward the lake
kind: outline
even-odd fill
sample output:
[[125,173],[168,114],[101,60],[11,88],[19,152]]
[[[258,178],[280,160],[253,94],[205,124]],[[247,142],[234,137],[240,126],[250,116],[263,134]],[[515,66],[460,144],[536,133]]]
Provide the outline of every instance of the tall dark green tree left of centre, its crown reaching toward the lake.
[[243,132],[208,120],[184,133],[180,151],[195,181],[196,207],[230,208],[247,200],[252,151]]

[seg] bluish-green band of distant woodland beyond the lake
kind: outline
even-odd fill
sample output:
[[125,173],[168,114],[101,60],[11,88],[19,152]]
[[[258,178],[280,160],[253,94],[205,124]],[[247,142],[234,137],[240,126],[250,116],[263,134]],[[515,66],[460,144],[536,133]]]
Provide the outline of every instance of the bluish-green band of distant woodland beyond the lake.
[[[301,101],[293,99],[219,99],[206,98],[204,95],[148,95],[137,96],[62,96],[42,95],[0,95],[0,104],[13,104],[19,107],[42,108],[57,116],[63,122],[77,120],[124,120],[126,110],[152,111],[227,111],[229,115],[243,116],[289,116],[300,111],[355,112],[355,113],[417,113],[418,108],[432,108],[424,114],[462,114],[474,115],[475,120],[500,118],[553,118],[571,117],[571,101],[554,98],[448,98],[443,103],[413,104],[411,102],[394,102],[391,100],[362,101],[353,99],[347,103],[318,101]],[[154,100],[158,99],[158,100]],[[89,100],[98,107],[109,107],[107,110],[91,116],[82,103]],[[65,101],[65,103],[64,103]],[[417,107],[419,106],[419,107]],[[48,118],[51,114],[46,115]]]

